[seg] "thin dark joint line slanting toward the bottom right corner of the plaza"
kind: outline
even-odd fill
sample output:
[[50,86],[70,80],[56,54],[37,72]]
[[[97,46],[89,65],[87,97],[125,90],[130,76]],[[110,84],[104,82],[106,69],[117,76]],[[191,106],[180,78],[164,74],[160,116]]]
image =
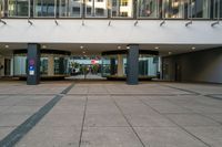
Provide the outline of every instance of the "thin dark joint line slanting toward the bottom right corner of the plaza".
[[191,135],[193,138],[195,138],[196,140],[200,140],[202,144],[204,144],[208,147],[211,147],[211,145],[209,145],[208,143],[205,143],[204,140],[202,140],[201,138],[199,138],[198,136],[193,135],[192,133],[190,133],[189,130],[186,130],[183,126],[179,125],[178,123],[175,123],[173,119],[169,118],[168,116],[161,114],[159,111],[157,111],[155,108],[153,108],[152,106],[150,106],[148,103],[145,103],[143,99],[139,98],[145,106],[152,108],[154,112],[157,112],[158,114],[160,114],[161,116],[165,117],[167,119],[169,119],[170,122],[172,122],[173,124],[175,124],[179,128],[181,128],[182,130],[184,130],[186,134]]

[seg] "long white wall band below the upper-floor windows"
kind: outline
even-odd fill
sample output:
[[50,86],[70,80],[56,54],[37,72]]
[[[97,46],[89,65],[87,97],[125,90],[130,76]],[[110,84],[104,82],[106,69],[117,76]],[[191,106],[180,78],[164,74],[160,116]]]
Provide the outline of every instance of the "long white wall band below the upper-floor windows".
[[18,43],[158,43],[158,44],[222,44],[222,25],[211,27],[212,21],[167,21],[160,20],[31,20],[4,19],[0,23],[0,42]]

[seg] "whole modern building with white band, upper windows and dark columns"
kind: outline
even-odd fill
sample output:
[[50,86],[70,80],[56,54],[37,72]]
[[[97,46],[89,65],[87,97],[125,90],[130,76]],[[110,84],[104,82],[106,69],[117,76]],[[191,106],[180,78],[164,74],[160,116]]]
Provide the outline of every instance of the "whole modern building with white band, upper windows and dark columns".
[[0,0],[0,75],[38,84],[93,54],[128,84],[222,83],[221,18],[222,0]]

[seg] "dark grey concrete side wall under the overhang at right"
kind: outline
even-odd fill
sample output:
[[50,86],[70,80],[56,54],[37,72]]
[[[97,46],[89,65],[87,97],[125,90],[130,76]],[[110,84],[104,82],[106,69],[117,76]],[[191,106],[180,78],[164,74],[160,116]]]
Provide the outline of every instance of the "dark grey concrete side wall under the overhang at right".
[[[163,80],[222,83],[222,48],[165,56],[162,59]],[[167,70],[168,69],[168,70]]]

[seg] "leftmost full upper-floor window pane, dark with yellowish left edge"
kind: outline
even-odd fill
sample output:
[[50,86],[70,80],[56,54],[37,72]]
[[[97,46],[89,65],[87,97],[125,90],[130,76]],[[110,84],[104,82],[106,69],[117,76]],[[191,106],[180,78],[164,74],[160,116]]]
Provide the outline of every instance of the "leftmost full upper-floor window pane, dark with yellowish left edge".
[[9,17],[28,17],[29,0],[9,0]]

